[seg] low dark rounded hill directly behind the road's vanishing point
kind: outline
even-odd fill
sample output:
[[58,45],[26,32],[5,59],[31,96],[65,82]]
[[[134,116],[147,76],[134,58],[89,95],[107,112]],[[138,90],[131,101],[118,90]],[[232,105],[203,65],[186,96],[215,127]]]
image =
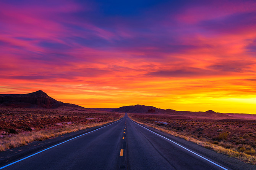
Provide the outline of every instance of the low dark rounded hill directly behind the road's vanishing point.
[[159,109],[153,106],[134,105],[123,106],[112,111],[119,113],[161,113],[164,109]]

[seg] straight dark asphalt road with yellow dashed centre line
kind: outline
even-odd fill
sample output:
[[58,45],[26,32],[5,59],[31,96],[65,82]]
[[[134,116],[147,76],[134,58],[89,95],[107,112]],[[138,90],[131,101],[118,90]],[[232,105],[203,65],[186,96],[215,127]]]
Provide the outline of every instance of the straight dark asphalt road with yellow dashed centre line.
[[[22,148],[22,147],[20,147]],[[1,154],[0,154],[1,156]],[[128,118],[5,162],[4,170],[255,170]],[[5,166],[3,166],[5,165]]]

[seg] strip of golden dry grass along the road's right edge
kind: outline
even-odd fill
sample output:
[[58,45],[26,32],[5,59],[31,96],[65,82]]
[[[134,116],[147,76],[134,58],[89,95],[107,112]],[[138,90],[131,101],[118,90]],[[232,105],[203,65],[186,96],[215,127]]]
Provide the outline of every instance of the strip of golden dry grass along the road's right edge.
[[[226,148],[227,143],[225,143],[224,141],[215,142],[215,144],[214,144],[214,142],[213,143],[209,142],[209,141],[205,140],[204,138],[191,137],[190,135],[187,135],[187,134],[183,133],[182,131],[176,132],[176,131],[170,130],[164,126],[157,126],[156,124],[152,124],[152,123],[149,123],[146,121],[141,121],[141,119],[133,118],[131,115],[129,115],[129,117],[133,121],[138,122],[140,124],[144,124],[149,127],[154,127],[157,130],[161,130],[162,132],[169,133],[170,135],[173,135],[175,137],[180,137],[187,141],[196,143],[197,145],[204,146],[205,148],[208,148],[208,149],[212,149],[212,150],[216,151],[217,153],[226,154],[230,157],[235,157],[244,162],[256,165],[256,151],[252,147],[250,149],[248,149],[248,147],[247,148],[241,147],[239,149],[239,147],[234,147],[232,144],[229,144],[230,146],[228,149],[228,148]],[[220,133],[219,137],[221,140],[225,140],[225,139],[227,139],[227,133],[224,133],[224,132]],[[218,145],[216,145],[216,144],[218,144]]]

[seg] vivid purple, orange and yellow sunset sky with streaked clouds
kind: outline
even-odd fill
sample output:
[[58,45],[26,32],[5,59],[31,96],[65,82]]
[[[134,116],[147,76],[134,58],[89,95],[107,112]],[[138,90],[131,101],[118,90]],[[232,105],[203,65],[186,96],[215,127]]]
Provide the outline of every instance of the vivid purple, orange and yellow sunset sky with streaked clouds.
[[256,114],[255,0],[1,0],[0,94]]

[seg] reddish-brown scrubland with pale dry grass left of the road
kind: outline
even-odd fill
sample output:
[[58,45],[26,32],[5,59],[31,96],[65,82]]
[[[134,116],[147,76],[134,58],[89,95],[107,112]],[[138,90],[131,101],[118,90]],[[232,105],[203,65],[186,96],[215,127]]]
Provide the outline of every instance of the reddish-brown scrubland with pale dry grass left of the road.
[[81,110],[0,108],[0,151],[101,126],[122,116]]

